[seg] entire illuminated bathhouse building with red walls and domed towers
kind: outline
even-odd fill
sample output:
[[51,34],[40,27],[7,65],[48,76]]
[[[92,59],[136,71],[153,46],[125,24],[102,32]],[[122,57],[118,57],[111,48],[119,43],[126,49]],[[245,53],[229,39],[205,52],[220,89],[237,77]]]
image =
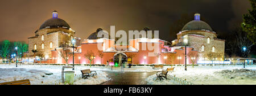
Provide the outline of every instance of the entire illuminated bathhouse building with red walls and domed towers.
[[[116,43],[117,40],[98,37],[98,28],[96,32],[90,34],[88,38],[80,42],[80,38],[75,37],[75,31],[62,19],[57,18],[57,11],[52,12],[51,19],[45,21],[41,27],[36,30],[35,36],[28,38],[29,53],[32,56],[32,50],[43,51],[45,60],[42,63],[65,63],[65,60],[58,54],[60,42],[65,37],[74,37],[76,39],[75,64],[88,64],[85,54],[93,51],[93,64],[106,64],[107,61],[122,60],[122,62],[132,62],[133,64],[185,64],[185,46],[182,45],[184,38],[187,38],[187,54],[204,54],[209,52],[220,53],[224,56],[225,40],[217,38],[217,34],[212,28],[200,20],[200,14],[195,14],[195,20],[187,23],[181,32],[177,33],[177,40],[170,42],[158,38],[138,37],[129,40],[129,45]],[[144,28],[143,30],[150,30]],[[109,35],[108,33],[106,33]],[[154,36],[152,36],[154,37]],[[100,47],[98,47],[100,45]],[[151,46],[148,46],[151,45]],[[151,50],[153,46],[155,50]],[[98,51],[102,50],[104,56],[100,58]],[[150,56],[159,54],[159,56]],[[135,56],[131,60],[131,54]],[[193,58],[193,57],[192,57]],[[187,64],[192,64],[192,58],[187,56]],[[195,63],[201,62],[201,58],[193,59]],[[131,61],[129,61],[129,59]],[[73,57],[68,58],[68,63],[72,64]]]

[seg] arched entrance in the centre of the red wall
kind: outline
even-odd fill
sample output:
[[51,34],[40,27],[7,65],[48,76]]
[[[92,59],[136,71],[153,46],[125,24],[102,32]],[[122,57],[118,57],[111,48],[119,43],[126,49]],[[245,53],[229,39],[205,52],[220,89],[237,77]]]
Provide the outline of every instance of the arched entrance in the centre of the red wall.
[[114,54],[115,66],[121,66],[125,62],[127,62],[127,55],[125,53],[118,52]]

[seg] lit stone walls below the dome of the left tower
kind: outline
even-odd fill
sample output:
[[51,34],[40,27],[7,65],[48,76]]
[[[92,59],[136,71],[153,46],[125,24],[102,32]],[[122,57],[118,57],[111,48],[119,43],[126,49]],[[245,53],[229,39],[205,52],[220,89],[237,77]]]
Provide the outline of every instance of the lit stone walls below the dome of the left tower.
[[[34,55],[32,50],[43,51],[44,55],[47,57],[52,57],[51,51],[60,46],[60,42],[66,36],[74,37],[75,32],[66,28],[45,28],[35,32],[34,37],[28,38],[28,56]],[[42,40],[44,36],[44,40]],[[80,45],[80,38],[76,38],[76,45]],[[52,48],[50,48],[50,43],[52,42]],[[44,43],[44,49],[42,49],[42,43]]]

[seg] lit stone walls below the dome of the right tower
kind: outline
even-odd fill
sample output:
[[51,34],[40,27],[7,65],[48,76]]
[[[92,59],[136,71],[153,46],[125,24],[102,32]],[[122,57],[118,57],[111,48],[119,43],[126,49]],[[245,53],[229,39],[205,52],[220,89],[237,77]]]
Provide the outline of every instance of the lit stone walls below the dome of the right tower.
[[[209,32],[207,30],[186,30],[177,33],[177,40],[174,40],[172,45],[175,46],[177,43],[183,42],[184,38],[187,38],[188,46],[199,50],[200,57],[204,57],[205,54],[212,52],[212,47],[214,47],[214,53],[221,54],[220,58],[224,56],[225,40],[218,39],[215,32]],[[210,38],[209,43],[208,38]],[[202,46],[204,46],[204,51],[202,50]]]

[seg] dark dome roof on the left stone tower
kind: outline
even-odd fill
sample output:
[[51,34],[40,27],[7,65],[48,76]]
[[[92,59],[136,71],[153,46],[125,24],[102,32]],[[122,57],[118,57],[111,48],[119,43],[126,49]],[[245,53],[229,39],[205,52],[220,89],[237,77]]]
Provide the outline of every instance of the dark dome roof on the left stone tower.
[[49,28],[67,27],[68,29],[70,28],[70,26],[66,21],[59,18],[51,18],[44,21],[44,23],[40,26],[40,29],[44,29],[46,27],[49,27]]

